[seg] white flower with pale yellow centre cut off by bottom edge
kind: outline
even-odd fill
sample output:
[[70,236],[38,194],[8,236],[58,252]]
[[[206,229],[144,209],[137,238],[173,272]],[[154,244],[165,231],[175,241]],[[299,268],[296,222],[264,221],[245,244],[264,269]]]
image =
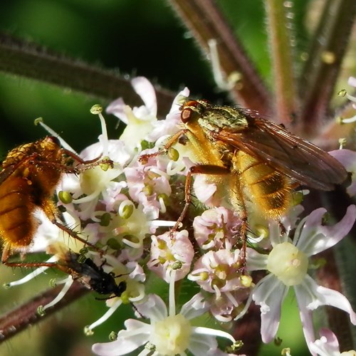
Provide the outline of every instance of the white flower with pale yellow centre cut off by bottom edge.
[[[218,349],[216,336],[234,337],[221,330],[193,326],[190,320],[206,312],[209,303],[198,293],[176,313],[174,302],[174,271],[169,284],[169,309],[158,295],[149,295],[146,303],[137,304],[137,310],[149,323],[129,319],[126,330],[120,330],[117,340],[93,345],[93,352],[101,356],[126,355],[138,347],[146,347],[139,355],[186,355],[189,350],[195,356],[228,355]],[[152,352],[152,350],[154,350]]]

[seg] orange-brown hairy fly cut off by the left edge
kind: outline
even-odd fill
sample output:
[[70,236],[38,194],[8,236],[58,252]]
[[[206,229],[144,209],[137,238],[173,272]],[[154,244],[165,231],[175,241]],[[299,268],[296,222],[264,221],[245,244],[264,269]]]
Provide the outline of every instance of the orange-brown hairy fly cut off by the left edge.
[[[69,165],[73,159],[80,164]],[[63,173],[90,169],[108,159],[84,161],[75,153],[61,148],[58,138],[48,136],[27,143],[9,152],[0,172],[0,236],[4,241],[1,261],[9,266],[24,266],[8,262],[11,251],[23,251],[31,244],[38,222],[33,216],[41,209],[53,224],[85,244],[71,229],[58,221],[58,209],[53,195]]]

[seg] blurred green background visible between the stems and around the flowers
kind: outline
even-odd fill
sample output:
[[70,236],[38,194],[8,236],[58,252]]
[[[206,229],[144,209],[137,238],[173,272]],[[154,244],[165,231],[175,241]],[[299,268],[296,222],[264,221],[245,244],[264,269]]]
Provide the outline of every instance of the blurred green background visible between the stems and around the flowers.
[[[309,1],[295,1],[295,29],[301,53],[308,48],[308,31],[303,26]],[[271,82],[265,19],[261,0],[220,0],[231,24],[251,53],[267,83]],[[187,30],[164,0],[4,0],[0,4],[1,31],[26,38],[53,51],[121,73],[145,75],[165,88],[178,91],[184,85],[192,97],[226,100],[211,78],[209,63],[194,45]],[[46,135],[33,125],[36,117],[45,122],[75,148],[95,142],[100,124],[90,107],[100,103],[70,90],[36,83],[33,80],[0,73],[0,156],[16,145]],[[116,120],[106,115],[110,137],[117,137]],[[26,271],[0,266],[1,283],[21,278]],[[51,276],[12,290],[1,290],[1,312],[47,288]],[[132,313],[129,307],[124,308]],[[125,313],[119,310],[110,322],[100,326],[92,337],[83,335],[83,326],[105,311],[105,303],[87,295],[56,317],[26,330],[0,346],[0,355],[67,356],[90,355],[93,342],[108,340],[111,330],[119,330]],[[278,336],[282,346],[264,347],[261,355],[281,355],[291,347],[293,356],[307,355],[301,335],[298,310],[293,295],[286,301]]]

